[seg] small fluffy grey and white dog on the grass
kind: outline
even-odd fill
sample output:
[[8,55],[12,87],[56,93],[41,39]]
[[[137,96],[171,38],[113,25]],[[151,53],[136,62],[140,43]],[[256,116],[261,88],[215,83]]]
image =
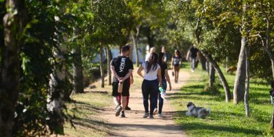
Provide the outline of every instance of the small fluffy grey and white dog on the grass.
[[188,107],[188,112],[186,112],[186,116],[195,116],[197,118],[204,119],[211,112],[210,107],[208,107],[208,110],[206,110],[206,108],[203,107],[198,108],[192,102],[189,102],[186,106]]

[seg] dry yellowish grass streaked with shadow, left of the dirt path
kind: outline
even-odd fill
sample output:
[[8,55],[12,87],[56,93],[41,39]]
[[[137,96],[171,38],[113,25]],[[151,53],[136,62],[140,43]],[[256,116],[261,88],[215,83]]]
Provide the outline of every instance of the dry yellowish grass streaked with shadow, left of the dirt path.
[[105,123],[97,115],[103,107],[110,105],[111,98],[108,94],[87,92],[73,95],[72,103],[66,103],[68,114],[75,115],[73,123],[66,122],[65,136],[87,137],[87,136],[108,136],[110,125]]

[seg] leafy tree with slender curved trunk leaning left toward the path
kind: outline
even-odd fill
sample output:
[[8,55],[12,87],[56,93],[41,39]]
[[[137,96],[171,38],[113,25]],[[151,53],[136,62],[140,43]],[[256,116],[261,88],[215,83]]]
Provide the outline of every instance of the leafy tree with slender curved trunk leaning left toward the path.
[[222,10],[220,8],[225,6],[214,5],[211,2],[213,1],[166,1],[166,8],[171,10],[173,18],[176,18],[177,27],[182,27],[181,36],[190,42],[197,43],[201,53],[219,73],[225,89],[225,100],[229,101],[230,90],[217,62],[222,63],[227,56],[235,55],[236,51],[231,49],[236,47],[234,44],[238,40],[234,40],[233,37],[236,29],[227,33],[231,31],[231,28],[216,23],[218,19],[216,16]]

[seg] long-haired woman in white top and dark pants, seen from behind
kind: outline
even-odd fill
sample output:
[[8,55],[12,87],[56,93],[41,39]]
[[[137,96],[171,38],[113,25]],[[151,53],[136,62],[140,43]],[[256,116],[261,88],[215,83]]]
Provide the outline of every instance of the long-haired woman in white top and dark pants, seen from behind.
[[[137,71],[138,75],[144,78],[144,81],[142,82],[142,99],[145,108],[145,114],[142,116],[143,118],[147,118],[149,116],[150,119],[153,119],[153,110],[155,108],[159,84],[162,87],[161,69],[157,61],[158,54],[151,53],[149,56],[149,61],[143,62],[142,66],[140,66]],[[145,71],[145,75],[142,75],[142,71]]]

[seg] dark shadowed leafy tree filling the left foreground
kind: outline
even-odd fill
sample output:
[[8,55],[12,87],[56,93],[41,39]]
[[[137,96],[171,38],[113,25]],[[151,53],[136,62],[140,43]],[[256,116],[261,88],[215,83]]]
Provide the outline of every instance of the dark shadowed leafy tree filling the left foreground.
[[[12,87],[17,89],[16,92],[14,91],[17,95],[10,94],[12,97],[8,97],[6,92],[1,92],[1,99],[2,97],[6,100],[9,99],[5,101],[3,98],[1,106],[10,106],[9,111],[1,108],[0,113],[3,114],[1,116],[12,116],[12,119],[5,117],[5,120],[9,121],[10,125],[6,125],[9,122],[3,125],[5,127],[1,128],[3,132],[1,130],[0,136],[6,136],[6,133],[9,134],[7,136],[63,134],[62,126],[64,120],[69,120],[69,117],[65,116],[63,112],[65,109],[63,101],[65,98],[63,96],[69,97],[66,95],[71,94],[72,84],[69,78],[72,79],[72,77],[60,80],[60,75],[58,74],[63,76],[69,75],[72,60],[75,58],[73,49],[76,49],[76,45],[86,44],[90,41],[89,34],[86,33],[90,32],[88,30],[91,28],[90,18],[92,14],[89,12],[90,3],[89,1],[80,0],[0,1],[0,3],[1,18],[6,13],[5,6],[2,3],[10,4],[7,16],[15,13],[14,16],[10,16],[11,19],[15,18],[15,20],[8,21],[14,21],[14,23],[12,22],[9,25],[17,26],[14,27],[15,29],[12,29],[12,33],[14,34],[15,31],[16,34],[16,38],[13,41],[16,42],[16,45],[21,45],[17,50],[18,52],[14,54],[16,58],[6,56],[8,54],[5,53],[7,52],[5,47],[10,48],[12,45],[10,43],[4,44],[3,37],[12,36],[10,35],[12,33],[3,34],[3,31],[0,32],[1,51],[3,51],[1,52],[1,58],[3,58],[1,60],[1,68],[5,70],[1,71],[1,73],[5,72],[5,75],[2,74],[2,77],[5,77],[2,78],[1,84],[6,86],[12,84]],[[12,4],[15,4],[15,6]],[[24,5],[25,10],[23,10]],[[14,10],[21,12],[12,12]],[[84,12],[79,12],[79,10]],[[3,22],[1,22],[0,30],[4,29],[2,24]],[[7,26],[6,29],[8,30],[10,27]],[[75,36],[75,28],[77,27],[80,31],[86,31],[83,32],[84,35]],[[76,43],[76,45],[71,43]],[[8,85],[5,84],[9,80],[6,77],[10,77],[6,75],[12,74],[10,72],[14,70],[6,68],[8,64],[3,64],[3,62],[6,62],[5,60],[10,60],[10,63],[16,63],[13,67],[17,68],[18,77],[21,79],[19,86],[10,82]],[[51,82],[49,79],[51,79]],[[16,77],[13,80],[18,81]],[[4,90],[6,89],[1,89],[1,91]],[[16,100],[16,97],[18,97],[18,100]],[[49,103],[54,101],[58,101],[59,107],[54,105],[53,109],[49,109]],[[15,113],[10,112],[12,109]],[[11,129],[12,132],[10,132]]]

